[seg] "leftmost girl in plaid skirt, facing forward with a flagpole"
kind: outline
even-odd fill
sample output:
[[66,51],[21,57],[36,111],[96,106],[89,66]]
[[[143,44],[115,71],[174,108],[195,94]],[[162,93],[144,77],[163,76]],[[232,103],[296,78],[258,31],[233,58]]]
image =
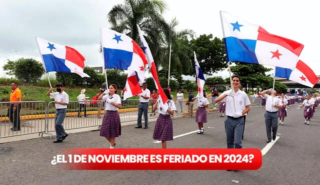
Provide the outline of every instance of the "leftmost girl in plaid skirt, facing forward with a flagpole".
[[116,93],[116,85],[109,86],[109,93],[102,97],[105,102],[105,113],[100,129],[100,136],[110,143],[110,149],[115,146],[115,138],[121,135],[121,123],[118,109],[121,107],[121,98]]

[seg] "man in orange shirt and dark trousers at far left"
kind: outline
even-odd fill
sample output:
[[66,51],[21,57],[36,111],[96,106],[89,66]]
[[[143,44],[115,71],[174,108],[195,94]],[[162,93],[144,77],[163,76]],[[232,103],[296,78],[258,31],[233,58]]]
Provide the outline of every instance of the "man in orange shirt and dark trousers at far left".
[[[18,84],[13,82],[11,83],[11,94],[10,94],[10,102],[20,102],[21,99],[21,91],[18,88]],[[21,103],[10,103],[10,107],[8,108],[7,116],[13,124],[12,131],[20,130],[20,110],[22,104]]]

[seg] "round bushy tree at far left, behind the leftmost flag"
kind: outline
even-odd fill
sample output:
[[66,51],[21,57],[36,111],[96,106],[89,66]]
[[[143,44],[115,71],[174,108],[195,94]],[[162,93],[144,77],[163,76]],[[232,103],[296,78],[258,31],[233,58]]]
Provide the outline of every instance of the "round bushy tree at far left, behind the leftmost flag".
[[43,64],[33,58],[19,58],[3,65],[6,74],[14,75],[21,82],[37,82],[44,73]]

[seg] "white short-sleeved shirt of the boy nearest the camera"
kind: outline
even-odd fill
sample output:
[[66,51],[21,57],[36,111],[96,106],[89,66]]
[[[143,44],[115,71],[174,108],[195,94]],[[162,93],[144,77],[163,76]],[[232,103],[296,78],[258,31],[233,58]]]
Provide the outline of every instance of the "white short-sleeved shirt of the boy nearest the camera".
[[[228,94],[230,90],[224,91],[220,96],[224,96],[224,94]],[[245,106],[250,105],[250,100],[244,91],[238,90],[234,97],[235,102],[235,112],[242,112],[245,109]],[[234,112],[233,109],[233,98],[231,96],[225,97],[225,115],[232,116]]]

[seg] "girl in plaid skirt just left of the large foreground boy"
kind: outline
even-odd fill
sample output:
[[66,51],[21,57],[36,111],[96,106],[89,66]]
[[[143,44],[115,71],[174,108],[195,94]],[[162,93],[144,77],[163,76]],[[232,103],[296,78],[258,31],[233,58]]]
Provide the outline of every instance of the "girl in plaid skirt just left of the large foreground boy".
[[205,108],[207,108],[209,104],[209,101],[205,97],[205,90],[203,89],[203,96],[196,96],[192,98],[192,100],[195,100],[195,99],[197,99],[197,105],[198,105],[198,108],[196,109],[196,112],[195,112],[195,122],[198,124],[198,128],[199,128],[199,132],[196,134],[203,134],[204,133],[203,123],[207,122]]

